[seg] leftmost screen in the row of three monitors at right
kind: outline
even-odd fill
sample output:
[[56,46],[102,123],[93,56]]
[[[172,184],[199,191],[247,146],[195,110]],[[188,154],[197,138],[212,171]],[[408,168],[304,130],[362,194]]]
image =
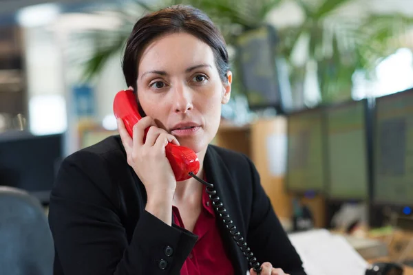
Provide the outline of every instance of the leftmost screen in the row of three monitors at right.
[[324,190],[322,111],[288,115],[286,187],[291,192]]

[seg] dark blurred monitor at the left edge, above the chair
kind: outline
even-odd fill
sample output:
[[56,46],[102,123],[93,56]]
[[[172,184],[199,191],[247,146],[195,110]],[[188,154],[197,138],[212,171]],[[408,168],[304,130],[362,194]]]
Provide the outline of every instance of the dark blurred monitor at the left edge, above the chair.
[[47,204],[63,159],[61,134],[0,135],[0,185],[30,192]]

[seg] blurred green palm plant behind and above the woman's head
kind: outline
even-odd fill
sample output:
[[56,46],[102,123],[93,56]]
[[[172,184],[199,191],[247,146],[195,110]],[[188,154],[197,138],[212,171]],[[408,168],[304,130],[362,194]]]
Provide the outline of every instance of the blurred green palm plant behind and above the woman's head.
[[[286,2],[294,3],[304,20],[296,25],[275,26],[279,36],[275,54],[286,60],[295,94],[305,92],[304,79],[308,68],[313,68],[319,102],[351,98],[354,72],[374,77],[377,61],[403,47],[398,37],[413,23],[412,17],[403,14],[346,15],[342,11],[351,0],[162,0],[154,5],[130,0],[116,10],[123,22],[118,30],[93,34],[96,48],[85,62],[84,79],[94,78],[111,56],[120,53],[137,17],[145,11],[178,3],[193,5],[209,14],[231,46],[242,32],[268,24],[271,12]],[[301,61],[295,58],[299,48],[305,56]]]

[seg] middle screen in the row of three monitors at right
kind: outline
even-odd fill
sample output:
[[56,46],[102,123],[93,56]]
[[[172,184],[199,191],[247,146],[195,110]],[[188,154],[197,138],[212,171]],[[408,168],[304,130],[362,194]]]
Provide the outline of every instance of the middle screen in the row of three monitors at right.
[[326,193],[368,199],[367,100],[326,108]]

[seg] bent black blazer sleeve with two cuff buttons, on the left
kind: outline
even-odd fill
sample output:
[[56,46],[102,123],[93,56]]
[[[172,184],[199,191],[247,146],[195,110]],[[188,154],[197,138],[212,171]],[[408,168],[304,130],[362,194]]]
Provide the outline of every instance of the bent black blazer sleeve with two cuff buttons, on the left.
[[100,155],[78,152],[61,164],[49,222],[63,274],[179,274],[198,236],[144,210],[128,241],[115,185]]

